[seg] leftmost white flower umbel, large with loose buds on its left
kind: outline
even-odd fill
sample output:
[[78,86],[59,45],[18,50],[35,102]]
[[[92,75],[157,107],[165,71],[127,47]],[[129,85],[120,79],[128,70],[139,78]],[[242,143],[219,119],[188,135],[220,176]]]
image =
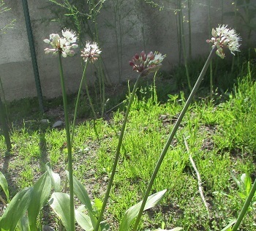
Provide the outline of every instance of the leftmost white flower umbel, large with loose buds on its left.
[[74,56],[74,48],[78,48],[78,45],[75,44],[77,37],[75,31],[64,29],[62,30],[62,36],[59,37],[59,34],[50,34],[50,39],[44,39],[44,42],[50,44],[52,48],[45,48],[45,53],[53,53],[57,55],[61,53],[61,56],[66,58],[67,56]]

